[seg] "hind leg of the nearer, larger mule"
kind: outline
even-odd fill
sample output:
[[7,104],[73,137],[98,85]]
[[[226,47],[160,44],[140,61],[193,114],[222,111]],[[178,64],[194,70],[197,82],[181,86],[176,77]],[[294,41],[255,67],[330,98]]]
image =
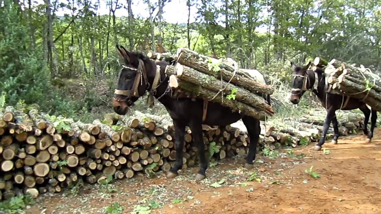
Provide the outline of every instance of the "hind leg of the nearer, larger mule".
[[255,160],[255,154],[257,152],[257,142],[259,139],[259,134],[261,133],[261,126],[259,125],[258,119],[249,116],[243,117],[242,121],[247,128],[247,133],[249,134],[250,138],[250,147],[246,157],[245,168],[252,169],[253,160]]

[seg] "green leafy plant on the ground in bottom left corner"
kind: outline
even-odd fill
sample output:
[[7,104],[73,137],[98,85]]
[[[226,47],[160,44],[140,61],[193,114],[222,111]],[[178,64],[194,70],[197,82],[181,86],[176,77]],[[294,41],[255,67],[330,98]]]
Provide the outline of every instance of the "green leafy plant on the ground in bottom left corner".
[[24,208],[32,203],[34,203],[34,201],[29,194],[16,196],[0,203],[0,213],[25,214]]

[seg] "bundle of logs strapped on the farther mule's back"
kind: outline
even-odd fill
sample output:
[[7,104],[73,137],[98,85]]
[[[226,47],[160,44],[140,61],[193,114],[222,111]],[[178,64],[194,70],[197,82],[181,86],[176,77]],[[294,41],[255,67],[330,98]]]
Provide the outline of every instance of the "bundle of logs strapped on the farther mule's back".
[[381,76],[374,70],[336,59],[327,62],[319,57],[315,58],[314,65],[323,68],[326,75],[329,75],[327,81],[331,89],[359,99],[376,111],[381,111]]

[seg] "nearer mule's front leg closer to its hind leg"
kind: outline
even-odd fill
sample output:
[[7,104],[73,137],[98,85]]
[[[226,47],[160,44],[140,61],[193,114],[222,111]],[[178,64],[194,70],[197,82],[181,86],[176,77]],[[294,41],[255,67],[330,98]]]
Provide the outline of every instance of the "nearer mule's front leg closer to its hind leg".
[[[206,171],[208,168],[208,161],[205,158],[204,141],[202,139],[202,122],[201,120],[191,120],[189,128],[192,130],[193,142],[197,146],[197,152],[199,153],[200,169],[196,175],[196,180],[202,180],[206,177]],[[182,149],[182,148],[181,148]],[[177,153],[177,152],[176,152]]]

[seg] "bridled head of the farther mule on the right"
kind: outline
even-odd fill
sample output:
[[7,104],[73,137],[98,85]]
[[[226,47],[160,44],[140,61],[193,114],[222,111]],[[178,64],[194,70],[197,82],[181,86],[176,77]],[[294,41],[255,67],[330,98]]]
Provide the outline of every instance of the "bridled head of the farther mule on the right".
[[296,66],[294,62],[291,62],[291,69],[294,72],[294,80],[292,83],[290,101],[293,104],[298,104],[304,92],[307,91],[307,70],[311,64],[312,63],[309,62],[307,65],[304,66]]

